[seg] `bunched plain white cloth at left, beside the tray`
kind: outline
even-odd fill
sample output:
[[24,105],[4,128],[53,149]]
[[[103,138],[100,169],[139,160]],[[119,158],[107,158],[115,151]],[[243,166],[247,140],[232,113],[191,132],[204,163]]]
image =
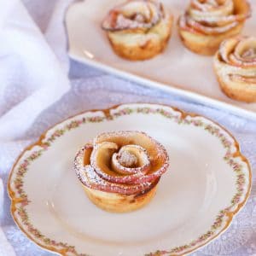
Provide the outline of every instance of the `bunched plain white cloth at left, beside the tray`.
[[[0,3],[0,145],[4,150],[10,149],[15,156],[24,146],[16,141],[17,138],[26,133],[39,113],[59,100],[70,88],[67,78],[68,61],[67,55],[62,54],[66,61],[62,61],[65,65],[61,65],[56,57],[61,55],[60,50],[53,52],[20,0]],[[61,19],[62,16],[59,14],[56,17]],[[63,42],[64,27],[60,21],[55,22],[54,18],[49,22],[47,38],[58,47],[58,32],[55,32],[54,24],[60,25],[62,38],[58,39]],[[65,48],[62,47],[62,50]],[[1,154],[0,158],[4,166],[6,154]],[[4,171],[7,170],[1,168],[0,177]],[[3,214],[8,211],[3,207],[1,178],[0,194],[2,220]],[[8,198],[4,198],[4,201],[8,201]],[[15,255],[1,228],[0,255]]]

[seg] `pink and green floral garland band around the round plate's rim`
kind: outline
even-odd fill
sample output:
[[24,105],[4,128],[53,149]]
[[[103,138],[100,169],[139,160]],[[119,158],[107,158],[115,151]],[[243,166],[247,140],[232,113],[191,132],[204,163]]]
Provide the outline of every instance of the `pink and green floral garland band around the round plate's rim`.
[[[156,105],[153,105],[156,106]],[[204,244],[207,243],[207,241],[211,241],[215,236],[218,236],[222,231],[224,231],[230,224],[232,216],[227,220],[227,224],[224,226],[224,229],[218,230],[222,224],[224,224],[224,218],[228,215],[228,213],[233,213],[232,208],[233,207],[239,207],[245,203],[247,200],[249,191],[250,191],[250,185],[251,185],[251,180],[249,181],[249,185],[247,187],[247,191],[245,191],[245,185],[246,185],[246,177],[245,174],[242,172],[242,166],[240,163],[236,162],[236,160],[233,159],[233,155],[231,154],[231,147],[236,143],[236,140],[234,139],[234,142],[231,142],[229,138],[225,137],[224,133],[222,130],[223,128],[220,128],[219,125],[212,125],[212,124],[207,124],[203,122],[201,119],[196,119],[196,117],[201,117],[201,116],[196,116],[190,114],[185,114],[181,112],[180,110],[173,109],[172,107],[167,107],[170,108],[172,111],[167,111],[164,108],[150,108],[150,107],[126,107],[122,109],[118,109],[115,111],[113,114],[105,114],[105,116],[94,116],[94,117],[83,117],[82,119],[77,119],[77,120],[71,120],[67,125],[65,125],[61,129],[56,129],[49,137],[46,137],[42,140],[40,140],[40,147],[38,151],[34,151],[32,154],[30,154],[28,157],[26,157],[25,160],[22,160],[22,162],[19,164],[17,171],[15,173],[15,179],[14,179],[14,184],[15,184],[15,189],[17,194],[20,196],[17,199],[14,198],[13,195],[15,195],[15,192],[11,191],[10,189],[10,181],[11,177],[13,175],[13,172],[10,173],[9,175],[9,196],[12,200],[12,208],[14,205],[14,209],[12,209],[12,215],[15,218],[15,211],[17,212],[21,223],[26,226],[26,230],[29,231],[29,234],[32,234],[32,236],[36,237],[37,240],[41,241],[42,243],[38,243],[39,246],[47,248],[49,250],[55,251],[57,253],[61,253],[65,255],[66,253],[73,253],[73,255],[79,255],[79,256],[85,256],[87,254],[84,253],[78,253],[75,249],[74,246],[68,245],[66,242],[57,242],[54,240],[49,239],[48,237],[44,236],[39,230],[34,228],[34,226],[30,223],[29,221],[29,216],[28,213],[26,212],[26,206],[30,203],[26,192],[23,189],[23,177],[25,176],[29,165],[33,160],[36,160],[40,155],[44,153],[45,150],[47,150],[51,143],[55,141],[58,137],[61,137],[64,135],[67,131],[71,131],[80,125],[86,124],[86,123],[98,123],[102,122],[104,120],[110,120],[110,119],[115,119],[118,118],[119,116],[123,115],[128,115],[131,113],[143,113],[143,114],[160,114],[168,119],[173,119],[177,124],[179,125],[194,125],[197,127],[203,128],[205,131],[209,132],[212,134],[212,136],[218,137],[224,148],[227,149],[226,154],[224,155],[224,160],[228,165],[230,165],[233,169],[234,172],[236,172],[236,195],[232,198],[230,202],[230,206],[226,207],[225,209],[221,210],[218,213],[218,216],[215,218],[214,223],[212,224],[212,227],[210,230],[208,230],[205,234],[201,235],[194,241],[191,241],[189,244],[180,246],[180,247],[174,247],[170,251],[162,251],[162,250],[157,250],[154,253],[147,253],[146,255],[148,256],[158,256],[158,255],[164,255],[166,253],[168,254],[174,254],[174,255],[180,255],[183,253],[189,253],[197,249],[198,247],[203,246]],[[115,108],[110,108],[110,109],[115,109]],[[174,110],[174,112],[173,112]],[[90,113],[85,112],[85,113]],[[175,113],[175,114],[174,114]],[[187,119],[187,117],[191,117],[191,119]],[[204,118],[205,119],[205,118]],[[67,119],[68,120],[68,119]],[[67,121],[65,120],[65,121]],[[207,119],[208,120],[208,119]],[[64,121],[63,121],[64,122]],[[55,126],[50,130],[53,130]],[[37,145],[37,143],[35,144]],[[236,148],[239,151],[239,148]],[[26,153],[27,150],[25,150],[20,156],[22,156],[24,153]],[[240,152],[239,152],[240,153]],[[242,156],[239,154],[239,156]],[[247,160],[244,160],[242,157],[242,160],[247,163]],[[19,160],[17,161],[17,163]],[[15,164],[16,166],[16,164]],[[15,169],[15,166],[13,170]],[[250,167],[247,163],[248,170],[250,170]],[[245,195],[245,200],[241,201],[242,195]],[[15,203],[18,202],[20,204],[19,207],[15,206]],[[240,207],[241,207],[240,206]],[[239,209],[237,209],[235,212],[237,212]],[[15,219],[15,222],[20,226],[18,220]],[[21,229],[23,230],[23,229]],[[26,231],[23,230],[25,233]],[[28,234],[26,234],[28,236]],[[29,236],[32,239],[32,236]],[[210,239],[212,238],[212,239]],[[33,240],[33,239],[32,239]],[[33,240],[34,241],[34,240]],[[60,249],[58,249],[60,248]]]

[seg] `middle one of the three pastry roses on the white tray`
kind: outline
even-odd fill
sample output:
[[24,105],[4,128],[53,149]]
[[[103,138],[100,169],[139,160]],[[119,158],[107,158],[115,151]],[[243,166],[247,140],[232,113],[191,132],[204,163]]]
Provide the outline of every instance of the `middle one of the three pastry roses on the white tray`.
[[250,16],[246,0],[191,0],[178,20],[183,44],[201,55],[213,55],[226,38],[241,32]]

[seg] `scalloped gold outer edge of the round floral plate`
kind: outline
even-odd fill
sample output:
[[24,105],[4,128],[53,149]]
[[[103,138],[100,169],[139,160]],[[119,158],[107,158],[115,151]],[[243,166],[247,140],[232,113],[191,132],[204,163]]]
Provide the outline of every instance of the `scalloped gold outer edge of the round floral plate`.
[[[225,225],[224,225],[224,228],[222,230],[220,230],[217,234],[214,234],[214,236],[210,236],[210,239],[201,243],[199,246],[197,247],[193,247],[192,249],[189,249],[185,252],[183,252],[182,254],[180,253],[172,253],[170,255],[186,255],[188,253],[192,253],[192,252],[195,252],[196,250],[198,250],[199,248],[201,247],[205,247],[208,243],[212,242],[213,240],[215,240],[218,236],[220,236],[221,234],[224,233],[224,231],[226,231],[230,224],[232,223],[232,220],[233,218],[236,216],[236,214],[238,212],[241,211],[242,207],[245,206],[247,200],[248,200],[248,197],[250,195],[250,192],[251,192],[251,189],[252,189],[252,170],[251,170],[251,166],[250,166],[250,163],[249,161],[247,160],[247,158],[241,154],[241,149],[240,149],[240,146],[239,146],[239,143],[237,143],[236,141],[236,137],[234,137],[230,131],[228,131],[226,128],[224,128],[224,126],[222,125],[219,125],[217,122],[213,121],[212,119],[209,119],[201,114],[196,114],[196,113],[187,113],[187,112],[184,112],[183,110],[179,109],[179,108],[175,108],[175,107],[172,107],[172,106],[169,106],[169,105],[165,105],[165,104],[159,104],[159,103],[142,103],[142,102],[135,102],[135,103],[124,103],[124,104],[118,104],[118,105],[114,105],[113,107],[110,107],[110,108],[102,108],[102,109],[91,109],[91,110],[86,110],[86,111],[83,111],[81,113],[77,113],[77,114],[74,114],[70,117],[68,117],[67,119],[63,119],[61,120],[60,122],[56,123],[55,125],[52,125],[49,127],[49,129],[47,129],[46,131],[44,131],[44,133],[42,133],[42,135],[38,138],[38,140],[35,142],[35,143],[32,143],[30,144],[29,146],[27,146],[21,153],[20,155],[17,157],[17,159],[15,160],[15,164],[12,166],[11,168],[11,171],[9,172],[9,179],[8,179],[8,184],[7,184],[7,189],[8,189],[8,194],[9,194],[9,199],[11,201],[11,206],[10,206],[10,213],[15,221],[15,224],[17,224],[17,226],[20,228],[20,230],[23,232],[23,234],[25,234],[28,239],[30,239],[31,241],[33,241],[36,245],[38,245],[38,247],[41,247],[43,248],[44,250],[47,250],[51,253],[58,253],[60,255],[66,255],[66,253],[68,252],[67,250],[63,250],[63,249],[57,249],[56,247],[49,247],[45,244],[42,244],[38,241],[36,241],[31,234],[29,234],[24,228],[23,228],[23,224],[19,222],[19,220],[15,217],[15,204],[17,203],[17,201],[15,201],[17,198],[15,198],[15,192],[11,189],[11,181],[12,181],[12,178],[13,178],[13,175],[14,175],[14,170],[15,170],[15,166],[17,166],[17,164],[19,163],[19,160],[21,159],[21,157],[26,154],[26,152],[32,150],[32,148],[38,146],[38,145],[42,145],[42,142],[44,141],[44,138],[46,137],[46,135],[48,134],[49,131],[52,131],[54,130],[54,128],[57,126],[57,125],[61,125],[62,123],[68,121],[69,119],[74,119],[76,118],[77,116],[79,115],[83,115],[85,113],[96,113],[96,112],[101,112],[104,114],[104,117],[107,118],[108,115],[110,114],[111,110],[115,110],[117,108],[120,108],[120,107],[126,107],[126,106],[131,106],[132,107],[135,107],[135,106],[158,106],[158,107],[163,107],[163,108],[170,108],[172,109],[172,111],[176,112],[176,113],[180,113],[181,115],[181,119],[185,119],[186,117],[191,117],[192,119],[193,118],[196,118],[196,117],[201,117],[203,119],[206,119],[210,122],[212,122],[214,125],[217,125],[218,127],[220,127],[223,131],[225,131],[233,140],[234,140],[234,144],[236,145],[236,153],[239,153],[239,157],[241,158],[241,160],[243,162],[245,162],[247,164],[247,171],[248,171],[248,185],[247,185],[247,192],[244,194],[245,195],[245,199],[243,201],[241,201],[241,203],[237,204],[236,205],[236,209],[231,211],[231,212],[225,212],[225,216],[228,217]],[[146,108],[147,108],[146,107]],[[111,114],[110,114],[111,115]],[[42,146],[41,146],[42,148]],[[18,201],[19,203],[19,201]],[[64,252],[64,253],[63,253]],[[84,254],[83,254],[84,255]],[[150,254],[151,255],[151,254]],[[153,255],[153,254],[152,254]]]

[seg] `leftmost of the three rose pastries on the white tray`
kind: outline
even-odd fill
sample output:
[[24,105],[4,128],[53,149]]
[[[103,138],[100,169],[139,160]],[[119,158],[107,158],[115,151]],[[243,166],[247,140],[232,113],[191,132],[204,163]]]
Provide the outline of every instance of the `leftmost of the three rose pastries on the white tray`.
[[133,0],[108,13],[102,22],[115,53],[132,61],[146,60],[166,48],[172,15],[153,0]]

